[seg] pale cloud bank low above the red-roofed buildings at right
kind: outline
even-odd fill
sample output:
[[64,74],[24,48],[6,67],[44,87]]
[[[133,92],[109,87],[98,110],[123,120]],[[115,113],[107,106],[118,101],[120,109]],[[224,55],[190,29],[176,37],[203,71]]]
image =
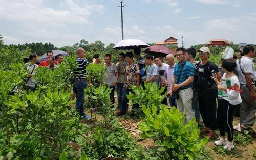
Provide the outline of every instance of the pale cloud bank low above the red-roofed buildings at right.
[[[182,31],[174,26],[157,27],[155,31],[146,32],[149,39],[163,41],[173,36],[181,46],[181,36],[184,36],[185,47],[196,44],[205,44],[211,39],[227,39],[235,44],[239,42],[255,43],[256,14],[250,13],[239,17],[210,19],[195,29]],[[166,31],[166,32],[159,32]]]

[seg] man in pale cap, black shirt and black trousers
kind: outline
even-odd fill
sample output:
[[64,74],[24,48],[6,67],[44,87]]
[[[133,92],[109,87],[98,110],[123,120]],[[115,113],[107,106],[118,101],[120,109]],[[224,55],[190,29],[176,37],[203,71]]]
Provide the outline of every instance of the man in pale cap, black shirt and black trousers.
[[215,130],[218,129],[216,120],[216,98],[217,86],[211,78],[211,73],[216,73],[217,79],[221,80],[218,66],[209,61],[210,49],[201,47],[199,49],[199,57],[201,61],[198,63],[198,103],[205,128],[201,132],[205,132],[204,137],[213,138]]

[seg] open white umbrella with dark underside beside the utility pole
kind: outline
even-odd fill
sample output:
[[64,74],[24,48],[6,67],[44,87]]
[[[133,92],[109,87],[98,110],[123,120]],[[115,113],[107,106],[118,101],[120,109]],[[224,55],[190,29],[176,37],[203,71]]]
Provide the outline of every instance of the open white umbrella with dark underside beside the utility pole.
[[118,42],[113,49],[128,50],[135,48],[146,48],[149,45],[139,39],[124,39]]

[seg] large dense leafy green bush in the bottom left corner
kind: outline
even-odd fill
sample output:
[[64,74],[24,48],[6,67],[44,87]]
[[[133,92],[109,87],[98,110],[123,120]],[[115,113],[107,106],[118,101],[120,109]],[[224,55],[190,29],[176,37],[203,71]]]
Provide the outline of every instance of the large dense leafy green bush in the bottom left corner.
[[66,148],[67,142],[82,136],[87,127],[79,123],[75,109],[68,109],[73,103],[69,101],[70,93],[51,89],[40,93],[36,90],[22,96],[15,94],[5,101],[7,108],[3,112],[7,111],[9,116],[1,118],[8,119],[6,123],[12,126],[9,135],[13,135],[15,141],[8,144],[15,148],[17,155],[54,159]]

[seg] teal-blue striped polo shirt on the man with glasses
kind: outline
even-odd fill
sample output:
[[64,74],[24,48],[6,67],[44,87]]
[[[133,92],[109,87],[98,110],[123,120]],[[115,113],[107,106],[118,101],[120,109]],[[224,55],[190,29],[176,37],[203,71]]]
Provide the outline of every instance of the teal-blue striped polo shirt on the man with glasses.
[[[186,62],[186,64],[185,64]],[[178,78],[179,78],[179,74],[180,74],[180,70],[181,67],[184,66],[181,75],[180,75],[180,81],[178,82]],[[187,60],[183,61],[182,64],[180,64],[180,62],[176,63],[175,67],[174,67],[174,75],[175,75],[175,84],[181,84],[184,81],[186,81],[186,79],[188,79],[189,76],[194,76],[194,67],[193,64],[191,64],[190,62],[188,62]],[[192,87],[193,83],[189,84],[188,86],[185,87],[181,87],[181,89],[186,89],[189,87]]]

